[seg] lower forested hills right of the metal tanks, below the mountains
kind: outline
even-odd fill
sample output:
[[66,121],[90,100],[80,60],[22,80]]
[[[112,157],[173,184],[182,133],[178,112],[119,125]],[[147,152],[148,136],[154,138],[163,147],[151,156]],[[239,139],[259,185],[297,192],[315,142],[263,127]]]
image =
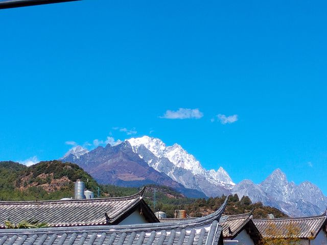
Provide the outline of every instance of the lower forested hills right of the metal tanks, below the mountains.
[[[175,209],[184,209],[191,217],[201,217],[216,211],[224,202],[225,196],[209,199],[192,199],[186,198],[179,192],[174,191],[170,187],[148,185],[144,193],[144,199],[154,211],[164,211],[167,217],[174,217]],[[110,193],[111,197],[120,197],[122,195],[130,195],[135,193],[137,188],[118,187],[113,185],[103,185],[102,189]],[[156,204],[154,207],[154,189]],[[250,212],[253,209],[254,218],[266,218],[268,214],[273,214],[276,218],[287,217],[282,211],[276,208],[263,206],[262,203],[252,204],[248,197],[241,200],[235,194],[228,199],[225,209],[226,215],[241,214]]]

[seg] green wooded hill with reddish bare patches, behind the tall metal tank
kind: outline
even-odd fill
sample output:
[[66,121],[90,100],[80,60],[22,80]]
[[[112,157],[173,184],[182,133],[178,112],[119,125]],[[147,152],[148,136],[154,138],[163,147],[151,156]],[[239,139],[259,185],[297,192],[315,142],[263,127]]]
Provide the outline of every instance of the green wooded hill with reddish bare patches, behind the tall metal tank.
[[44,161],[27,167],[12,161],[0,162],[0,200],[58,200],[74,196],[74,182],[89,180],[89,189],[98,183],[73,163]]

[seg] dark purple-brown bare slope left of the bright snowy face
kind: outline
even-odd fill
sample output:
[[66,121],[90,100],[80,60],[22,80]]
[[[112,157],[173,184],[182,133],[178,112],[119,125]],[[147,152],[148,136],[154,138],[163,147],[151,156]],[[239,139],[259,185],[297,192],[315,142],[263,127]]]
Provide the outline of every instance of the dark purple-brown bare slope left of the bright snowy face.
[[185,188],[164,173],[156,171],[139,155],[135,154],[128,141],[105,148],[98,148],[79,157],[68,154],[63,161],[71,161],[82,167],[101,184],[142,186],[160,184],[173,187],[189,197],[205,197],[197,190]]

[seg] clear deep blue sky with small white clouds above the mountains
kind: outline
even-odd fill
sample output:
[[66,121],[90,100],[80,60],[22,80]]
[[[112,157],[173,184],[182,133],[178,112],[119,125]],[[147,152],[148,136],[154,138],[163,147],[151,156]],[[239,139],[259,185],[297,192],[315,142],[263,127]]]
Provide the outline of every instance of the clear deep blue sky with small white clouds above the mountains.
[[0,159],[150,135],[234,182],[279,167],[327,194],[327,3],[267,2],[1,10]]

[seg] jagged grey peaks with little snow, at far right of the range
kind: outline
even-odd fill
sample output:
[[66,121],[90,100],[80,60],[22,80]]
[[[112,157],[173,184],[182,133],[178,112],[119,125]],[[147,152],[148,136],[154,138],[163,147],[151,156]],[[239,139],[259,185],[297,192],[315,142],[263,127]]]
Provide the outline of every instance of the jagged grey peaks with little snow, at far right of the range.
[[252,202],[262,202],[290,216],[319,215],[327,208],[327,198],[314,184],[289,182],[281,169],[275,169],[259,185],[244,180],[231,189],[240,198],[247,195]]

